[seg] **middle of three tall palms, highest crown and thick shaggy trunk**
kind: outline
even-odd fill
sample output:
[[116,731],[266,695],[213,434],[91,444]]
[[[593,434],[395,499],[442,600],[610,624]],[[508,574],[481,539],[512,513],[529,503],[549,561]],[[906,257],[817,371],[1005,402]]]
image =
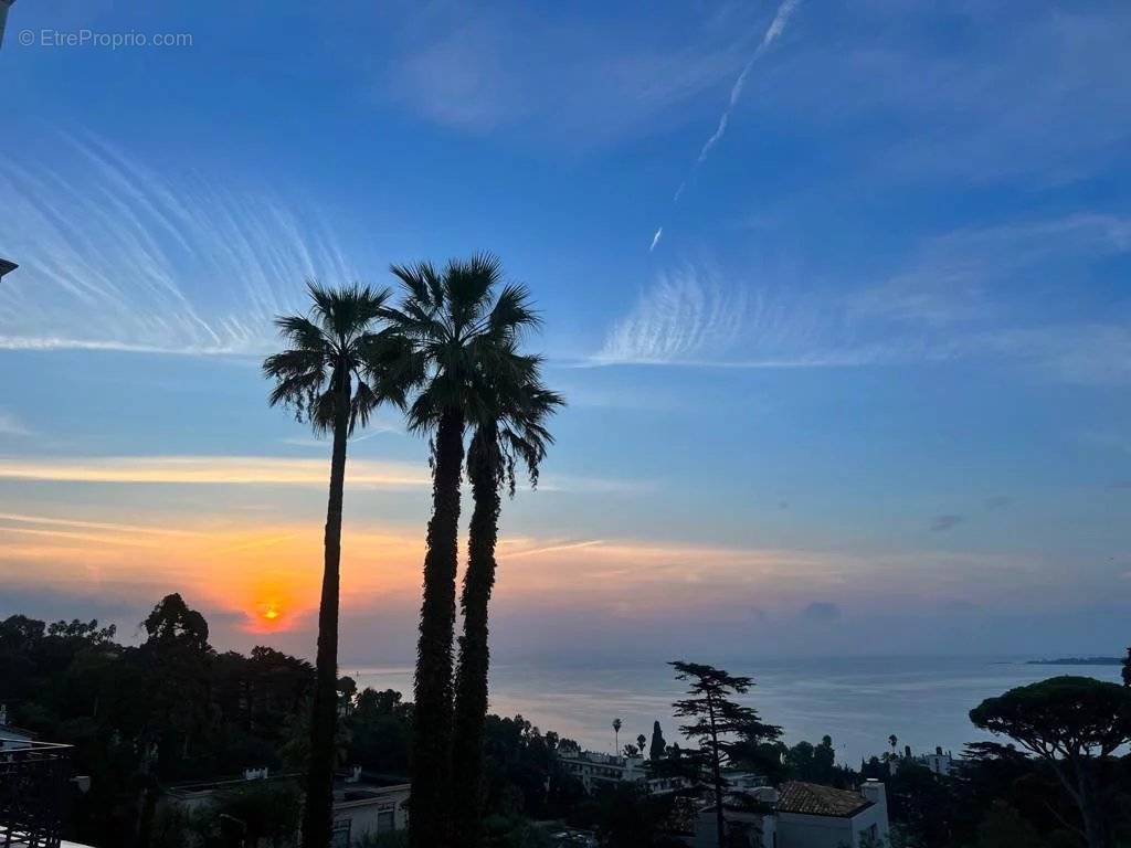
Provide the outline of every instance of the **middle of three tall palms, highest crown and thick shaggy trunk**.
[[408,426],[432,436],[432,518],[424,555],[424,598],[416,648],[415,712],[409,798],[409,845],[450,841],[452,641],[456,625],[459,485],[467,423],[482,421],[487,398],[481,374],[537,323],[525,292],[506,286],[495,296],[502,265],[490,253],[392,266],[405,286],[396,323],[423,360],[423,387]]

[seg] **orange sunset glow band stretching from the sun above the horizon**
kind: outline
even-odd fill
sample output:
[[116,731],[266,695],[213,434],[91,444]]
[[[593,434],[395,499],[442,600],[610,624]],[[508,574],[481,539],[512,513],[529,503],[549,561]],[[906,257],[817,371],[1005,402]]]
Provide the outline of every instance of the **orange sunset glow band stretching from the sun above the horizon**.
[[[106,513],[0,512],[0,591],[34,586],[154,604],[180,591],[219,628],[282,634],[317,629],[323,527],[254,514],[164,517],[145,523]],[[461,542],[465,539],[461,539]],[[424,528],[347,522],[340,605],[364,617],[418,607]],[[463,557],[461,557],[463,559]],[[500,539],[500,611],[605,611],[621,618],[664,611],[789,609],[844,597],[882,579],[892,591],[948,589],[956,573],[987,562],[1004,579],[1020,565],[1007,556],[952,552],[852,553],[743,548],[658,539],[510,536]],[[269,640],[267,640],[269,641]]]

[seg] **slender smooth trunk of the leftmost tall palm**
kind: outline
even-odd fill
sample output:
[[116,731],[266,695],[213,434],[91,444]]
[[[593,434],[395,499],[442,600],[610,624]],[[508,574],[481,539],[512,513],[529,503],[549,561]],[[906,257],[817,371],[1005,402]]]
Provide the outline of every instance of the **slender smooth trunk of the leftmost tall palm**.
[[334,738],[338,720],[338,568],[342,561],[342,500],[349,426],[349,378],[338,387],[330,458],[330,497],[326,509],[326,560],[318,607],[314,706],[310,717],[310,763],[302,814],[303,848],[328,848],[334,830]]

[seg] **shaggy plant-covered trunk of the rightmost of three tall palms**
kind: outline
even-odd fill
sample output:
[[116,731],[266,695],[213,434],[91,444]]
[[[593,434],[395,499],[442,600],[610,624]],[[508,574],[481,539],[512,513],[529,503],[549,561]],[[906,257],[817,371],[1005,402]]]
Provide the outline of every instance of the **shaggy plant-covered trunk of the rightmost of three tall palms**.
[[[455,845],[477,848],[481,839],[483,784],[483,734],[487,713],[487,605],[495,574],[499,539],[499,469],[493,451],[495,436],[484,429],[472,444],[468,473],[475,509],[467,542],[464,574],[464,634],[459,639],[456,670],[456,722],[452,741]],[[477,450],[477,448],[480,450]]]

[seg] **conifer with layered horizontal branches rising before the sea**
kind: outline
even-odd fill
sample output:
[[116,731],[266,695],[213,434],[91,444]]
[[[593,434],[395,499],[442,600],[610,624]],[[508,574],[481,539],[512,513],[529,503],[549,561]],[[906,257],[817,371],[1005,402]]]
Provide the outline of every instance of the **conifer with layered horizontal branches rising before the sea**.
[[757,710],[733,700],[754,685],[750,677],[740,677],[699,663],[668,663],[675,669],[675,680],[688,682],[688,695],[672,704],[676,717],[692,719],[681,725],[680,732],[699,744],[699,758],[711,786],[715,802],[715,828],[718,848],[726,847],[724,794],[726,780],[723,767],[740,751],[743,759],[763,743],[782,736],[782,728],[763,724]]

